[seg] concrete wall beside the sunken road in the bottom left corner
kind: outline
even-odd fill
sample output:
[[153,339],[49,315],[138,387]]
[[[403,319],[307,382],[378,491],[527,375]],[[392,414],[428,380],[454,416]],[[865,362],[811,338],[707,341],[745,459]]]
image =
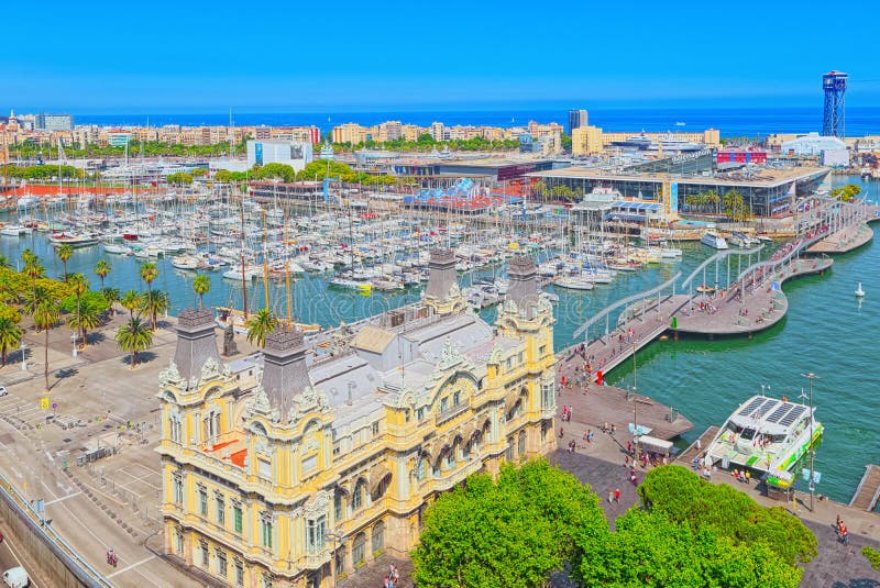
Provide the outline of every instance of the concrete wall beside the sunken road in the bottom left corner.
[[[55,534],[51,528],[43,526],[26,501],[6,478],[0,476],[0,525],[11,535],[16,545],[26,552],[47,586],[78,588],[81,586],[109,587],[103,578],[87,563],[80,561]],[[35,578],[32,578],[35,579]]]

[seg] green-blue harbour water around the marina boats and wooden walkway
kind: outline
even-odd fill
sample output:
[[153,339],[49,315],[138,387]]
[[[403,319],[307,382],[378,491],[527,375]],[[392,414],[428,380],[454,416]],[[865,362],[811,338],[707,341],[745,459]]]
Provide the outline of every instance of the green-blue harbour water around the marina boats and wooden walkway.
[[[880,201],[880,182],[860,180],[857,176],[832,176],[831,186],[857,182],[864,195]],[[875,230],[877,231],[877,229]],[[61,276],[62,264],[43,234],[28,237],[0,236],[0,253],[20,264],[21,251],[30,247],[43,259],[51,276]],[[650,289],[675,274],[683,280],[714,251],[698,244],[683,244],[683,258],[671,264],[648,266],[635,273],[622,273],[614,284],[597,286],[591,291],[558,290],[554,346],[557,351],[580,340],[573,332],[593,313],[624,297]],[[772,251],[772,249],[770,249]],[[765,255],[769,255],[768,251]],[[141,260],[106,254],[100,246],[77,249],[68,262],[69,271],[82,273],[98,288],[94,274],[98,259],[106,258],[111,273],[109,287],[124,291],[144,291],[139,277]],[[158,278],[153,288],[167,291],[172,298],[170,313],[197,301],[191,282],[195,273],[177,270],[168,258],[158,259]],[[671,406],[693,423],[694,429],[680,441],[686,446],[712,424],[724,420],[749,396],[766,391],[777,397],[798,399],[807,390],[802,376],[815,373],[813,401],[816,419],[825,425],[825,435],[816,452],[816,470],[821,481],[816,491],[834,500],[848,502],[864,474],[865,465],[880,459],[880,395],[877,393],[876,368],[880,350],[876,333],[880,331],[880,242],[877,238],[865,247],[835,257],[833,268],[823,276],[804,277],[784,285],[790,300],[787,317],[777,325],[752,339],[733,337],[716,341],[682,339],[656,341],[637,355],[639,392]],[[734,268],[735,269],[735,268]],[[464,286],[493,271],[462,277]],[[723,269],[724,271],[724,269]],[[212,307],[242,308],[243,290],[238,280],[228,280],[220,273],[210,274],[211,290],[205,303]],[[861,282],[867,292],[864,299],[855,296]],[[549,287],[551,289],[552,287]],[[287,296],[283,282],[270,282],[270,307],[278,315],[287,314]],[[262,280],[248,287],[250,309],[265,303]],[[327,278],[306,275],[293,285],[293,314],[306,323],[337,326],[376,314],[402,304],[415,302],[419,289],[398,293],[356,292],[328,288]],[[495,311],[482,315],[494,321]],[[610,318],[615,324],[616,317]],[[627,388],[632,384],[629,362],[607,375],[609,384]]]

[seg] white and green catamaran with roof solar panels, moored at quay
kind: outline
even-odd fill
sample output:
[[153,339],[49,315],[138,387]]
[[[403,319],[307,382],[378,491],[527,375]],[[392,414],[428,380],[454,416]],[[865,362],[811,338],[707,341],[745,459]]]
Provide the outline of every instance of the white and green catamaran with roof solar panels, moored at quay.
[[766,473],[768,481],[785,488],[792,479],[789,470],[822,437],[815,410],[785,398],[754,396],[724,423],[706,450],[706,461],[722,469]]

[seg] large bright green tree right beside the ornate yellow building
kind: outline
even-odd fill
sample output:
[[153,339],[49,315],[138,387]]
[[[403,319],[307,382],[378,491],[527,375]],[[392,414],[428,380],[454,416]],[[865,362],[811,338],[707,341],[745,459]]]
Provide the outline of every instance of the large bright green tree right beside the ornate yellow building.
[[506,464],[497,480],[469,476],[428,508],[414,579],[428,588],[543,586],[574,554],[575,536],[597,533],[608,523],[588,486],[543,458]]

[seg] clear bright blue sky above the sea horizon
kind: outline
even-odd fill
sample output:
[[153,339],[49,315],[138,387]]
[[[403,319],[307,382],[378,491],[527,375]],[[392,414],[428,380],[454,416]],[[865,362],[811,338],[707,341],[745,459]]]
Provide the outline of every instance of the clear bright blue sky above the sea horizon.
[[831,69],[849,73],[848,104],[880,106],[880,9],[866,1],[48,0],[6,13],[6,111],[800,107]]

